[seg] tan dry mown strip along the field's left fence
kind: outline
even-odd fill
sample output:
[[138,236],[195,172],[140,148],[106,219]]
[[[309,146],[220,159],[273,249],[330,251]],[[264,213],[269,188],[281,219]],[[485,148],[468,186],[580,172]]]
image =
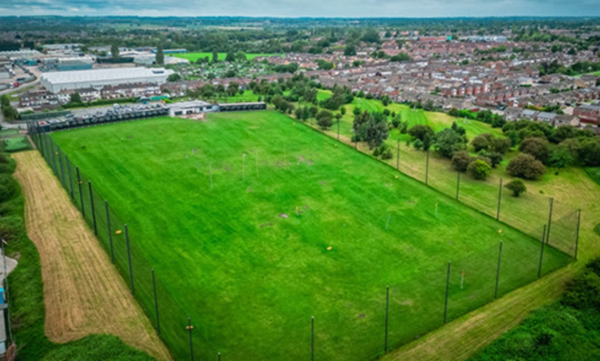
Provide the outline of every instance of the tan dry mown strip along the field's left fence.
[[26,199],[28,236],[40,255],[48,338],[68,342],[90,333],[110,333],[157,360],[170,360],[150,321],[40,154],[30,151],[12,157]]

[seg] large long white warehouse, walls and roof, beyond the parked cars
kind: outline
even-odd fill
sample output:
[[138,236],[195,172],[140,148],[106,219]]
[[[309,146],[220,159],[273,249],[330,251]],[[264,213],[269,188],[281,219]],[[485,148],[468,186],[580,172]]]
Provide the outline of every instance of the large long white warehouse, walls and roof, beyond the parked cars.
[[61,90],[77,90],[105,85],[135,83],[166,83],[173,70],[164,68],[110,68],[94,70],[76,70],[72,72],[48,72],[40,77],[40,83],[48,92],[57,94]]

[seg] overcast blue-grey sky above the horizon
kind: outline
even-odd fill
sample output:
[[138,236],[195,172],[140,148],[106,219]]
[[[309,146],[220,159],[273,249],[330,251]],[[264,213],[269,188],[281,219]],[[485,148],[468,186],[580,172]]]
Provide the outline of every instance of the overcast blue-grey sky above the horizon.
[[0,15],[248,17],[600,16],[599,0],[0,0]]

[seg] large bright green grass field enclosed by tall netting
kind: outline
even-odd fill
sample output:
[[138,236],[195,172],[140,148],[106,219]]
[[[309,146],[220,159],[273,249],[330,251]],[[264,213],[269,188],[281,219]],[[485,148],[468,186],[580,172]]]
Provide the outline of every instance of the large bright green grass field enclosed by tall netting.
[[[448,261],[449,319],[492,300],[500,240],[499,294],[537,278],[538,240],[277,112],[52,138],[165,284],[161,336],[178,360],[188,316],[203,359],[309,358],[311,316],[317,359],[372,359],[386,286],[392,347],[443,323]],[[549,247],[543,262],[546,274],[568,257]],[[136,287],[152,318],[150,286]]]

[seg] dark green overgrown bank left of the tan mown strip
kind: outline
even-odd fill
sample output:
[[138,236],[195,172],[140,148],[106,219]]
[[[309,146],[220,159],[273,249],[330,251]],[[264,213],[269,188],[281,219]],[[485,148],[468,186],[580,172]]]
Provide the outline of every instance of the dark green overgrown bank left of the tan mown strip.
[[12,172],[12,159],[8,163],[0,163],[0,229],[8,243],[7,256],[19,261],[17,268],[8,276],[12,336],[19,349],[17,358],[81,361],[152,360],[148,354],[132,349],[114,336],[94,335],[66,344],[48,340],[44,332],[46,309],[43,303],[39,253],[27,236],[23,222],[24,200],[18,183],[10,177]]

